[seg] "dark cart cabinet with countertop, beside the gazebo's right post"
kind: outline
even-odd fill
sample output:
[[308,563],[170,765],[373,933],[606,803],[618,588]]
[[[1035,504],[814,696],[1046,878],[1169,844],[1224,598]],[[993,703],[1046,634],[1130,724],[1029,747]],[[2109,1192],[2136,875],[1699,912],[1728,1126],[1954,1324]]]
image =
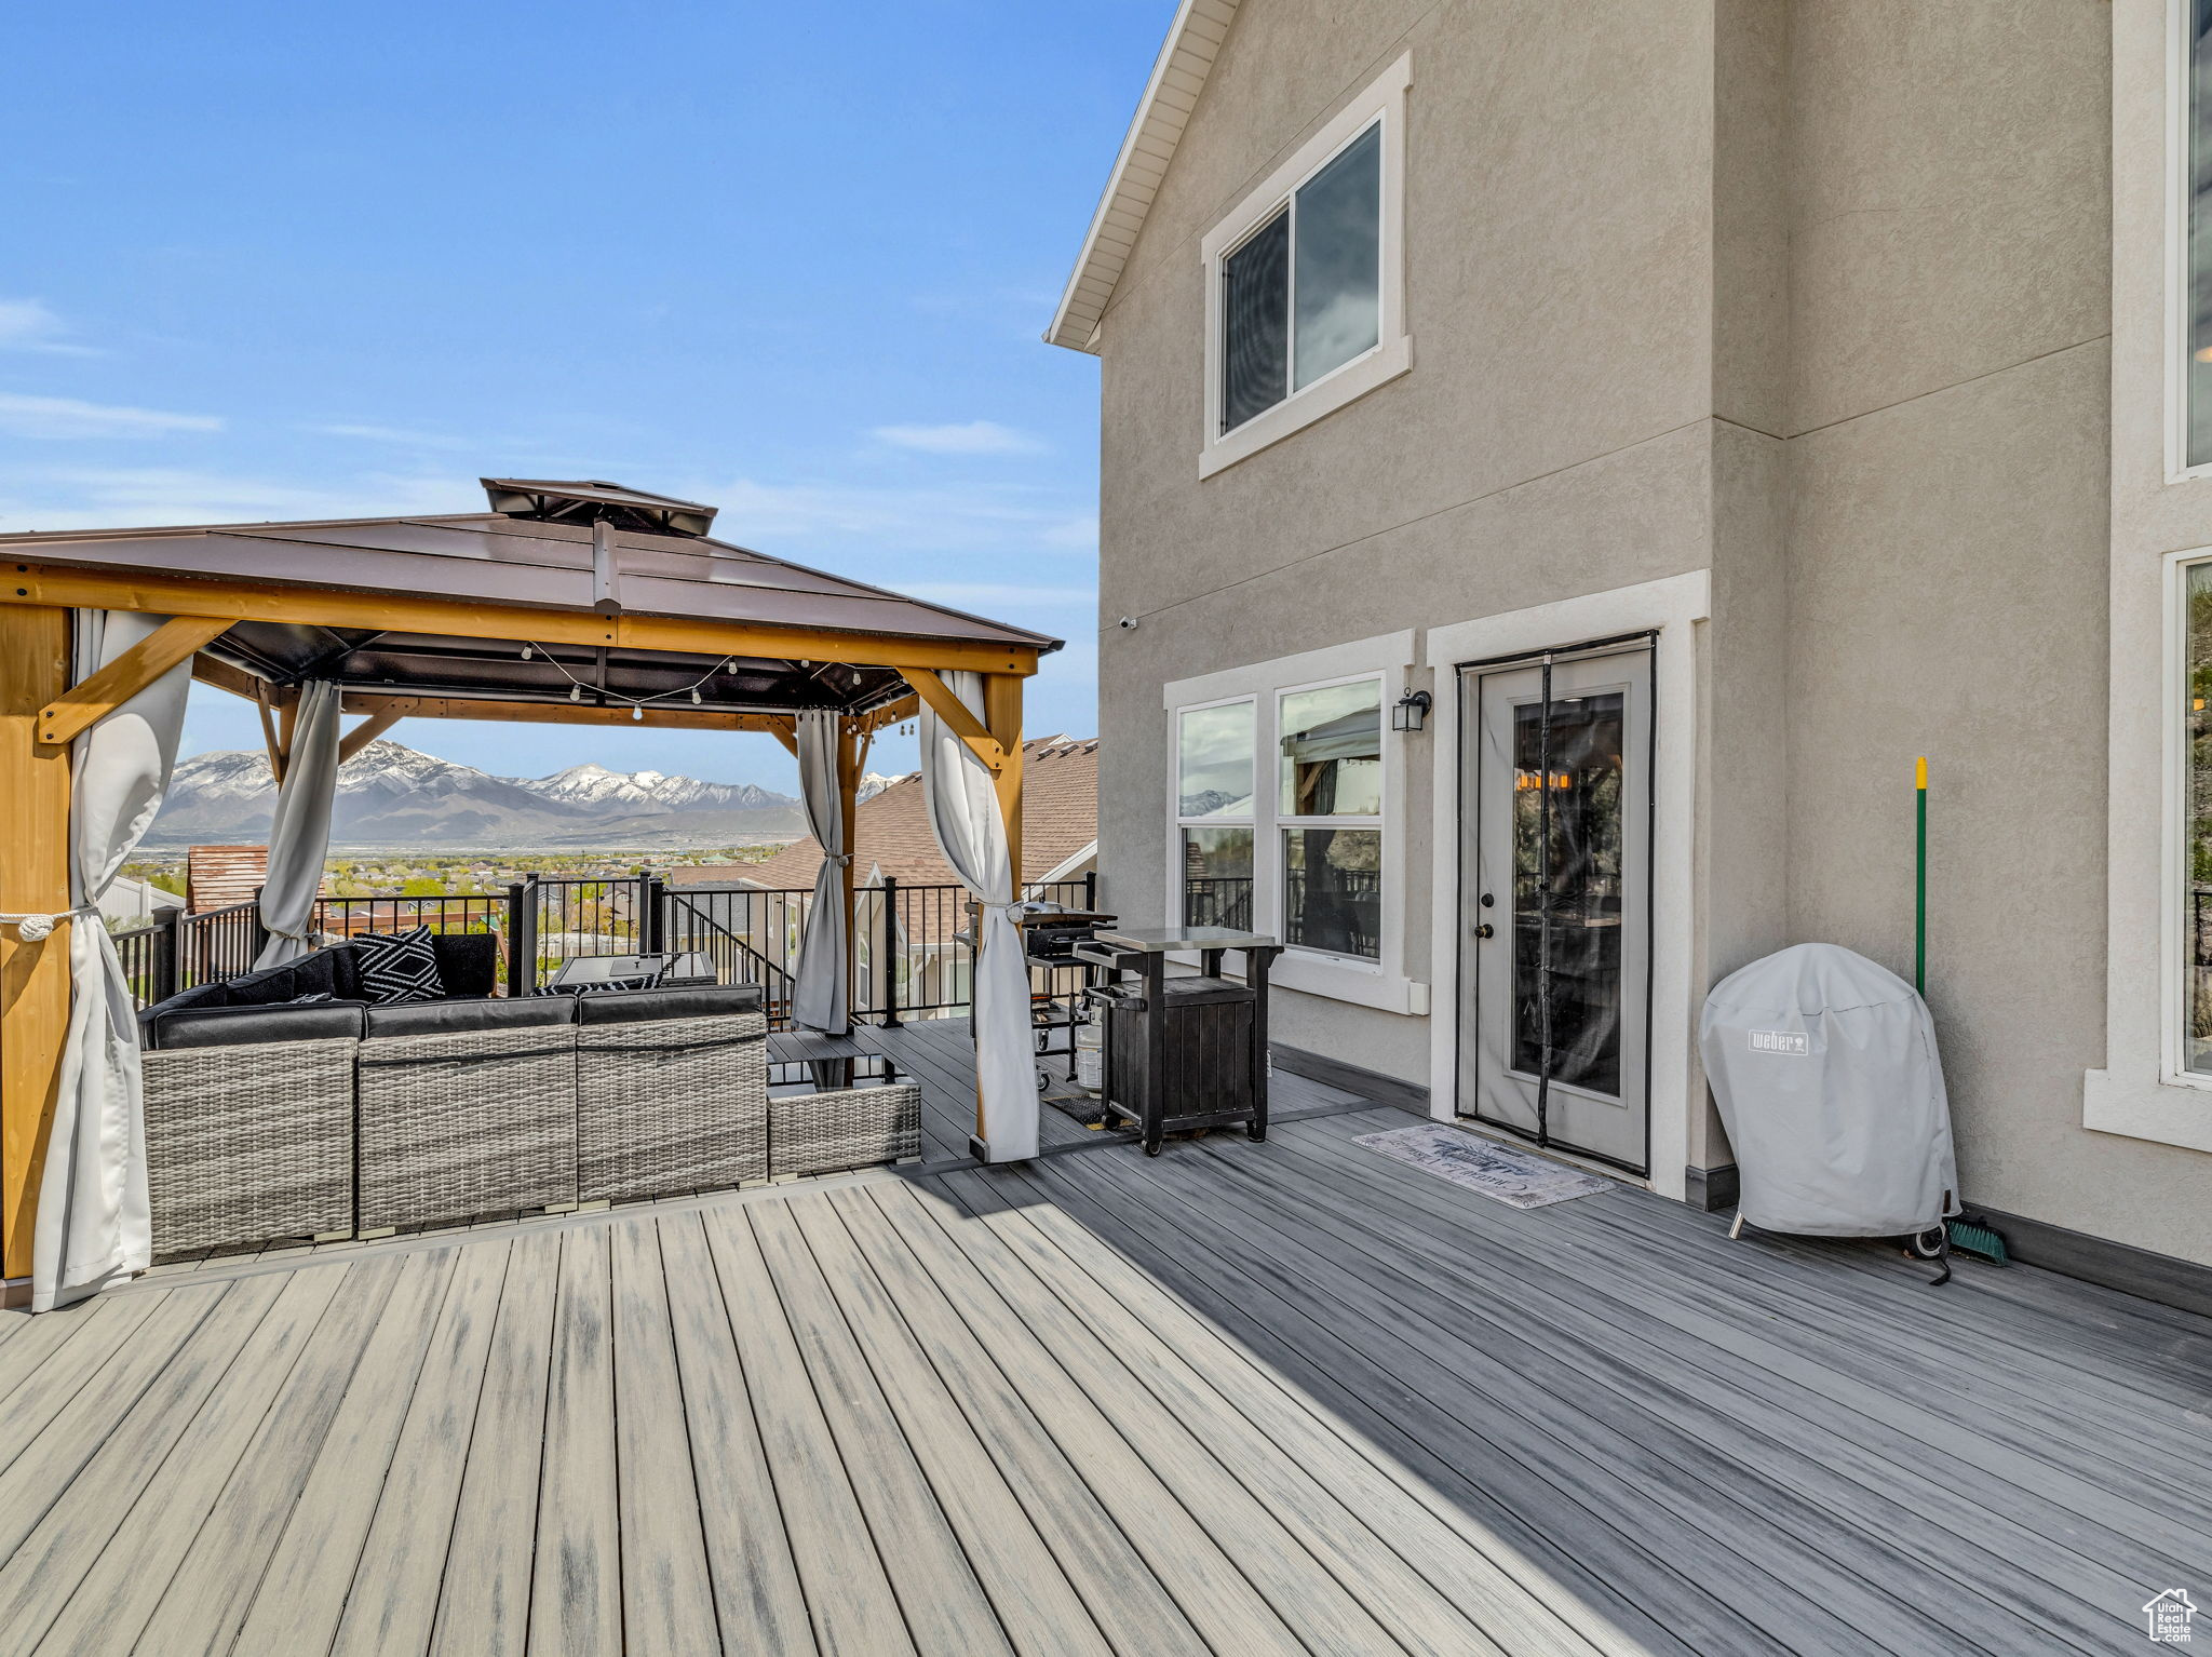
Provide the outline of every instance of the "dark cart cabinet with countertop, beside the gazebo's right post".
[[[1168,973],[1168,956],[1194,951],[1199,971]],[[1223,978],[1228,953],[1243,982]],[[1148,1157],[1170,1133],[1243,1124],[1267,1137],[1267,969],[1274,938],[1223,927],[1106,929],[1075,945],[1104,969],[1086,991],[1106,1018],[1108,1119],[1144,1135]]]

